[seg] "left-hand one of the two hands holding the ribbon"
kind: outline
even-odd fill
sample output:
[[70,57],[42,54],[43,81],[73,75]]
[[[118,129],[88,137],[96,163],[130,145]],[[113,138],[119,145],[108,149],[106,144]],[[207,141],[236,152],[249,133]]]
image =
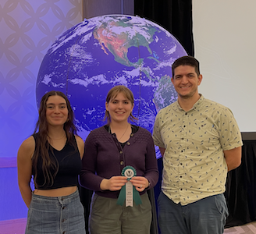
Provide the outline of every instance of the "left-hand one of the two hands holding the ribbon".
[[101,190],[118,191],[126,184],[125,176],[112,176],[110,179],[102,179]]

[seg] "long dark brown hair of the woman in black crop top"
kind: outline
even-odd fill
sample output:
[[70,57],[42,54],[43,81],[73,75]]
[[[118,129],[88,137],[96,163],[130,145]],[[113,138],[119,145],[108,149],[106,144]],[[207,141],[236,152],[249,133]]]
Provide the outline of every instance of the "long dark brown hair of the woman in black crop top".
[[[48,98],[51,96],[60,96],[63,97],[66,101],[66,106],[68,108],[68,119],[65,122],[63,129],[66,132],[67,141],[70,144],[73,144],[75,146],[75,143],[73,141],[73,134],[76,134],[76,126],[73,123],[74,114],[73,110],[71,108],[69,99],[66,97],[65,94],[63,94],[60,91],[49,91],[47,94],[44,94],[44,96],[41,98],[41,103],[39,107],[39,116],[37,120],[37,124],[34,129],[34,134],[37,133],[36,137],[36,147],[34,151],[34,155],[32,157],[32,170],[34,172],[34,184],[37,187],[37,163],[38,158],[41,156],[42,160],[42,170],[44,173],[44,184],[40,186],[52,186],[54,183],[55,176],[57,172],[59,171],[59,165],[57,161],[54,161],[50,158],[50,155],[48,153],[50,144],[48,143],[48,122],[46,120],[46,102],[48,101]],[[75,147],[76,149],[76,147]],[[51,149],[52,150],[52,149]],[[52,152],[53,153],[53,152]]]

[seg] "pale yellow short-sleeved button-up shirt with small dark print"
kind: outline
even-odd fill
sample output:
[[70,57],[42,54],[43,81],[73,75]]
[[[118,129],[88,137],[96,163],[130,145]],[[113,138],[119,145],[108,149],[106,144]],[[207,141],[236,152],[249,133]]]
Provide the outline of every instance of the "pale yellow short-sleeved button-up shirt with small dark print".
[[178,101],[155,119],[155,145],[165,148],[162,192],[176,204],[190,204],[225,191],[223,151],[240,147],[233,113],[203,96],[185,112]]

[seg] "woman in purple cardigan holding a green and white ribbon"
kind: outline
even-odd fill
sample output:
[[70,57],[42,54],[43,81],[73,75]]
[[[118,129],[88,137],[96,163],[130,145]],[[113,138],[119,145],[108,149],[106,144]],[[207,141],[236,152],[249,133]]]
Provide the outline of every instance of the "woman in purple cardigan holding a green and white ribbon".
[[[85,141],[80,184],[94,190],[91,234],[150,232],[151,202],[146,191],[158,182],[158,165],[151,133],[130,124],[136,119],[133,102],[133,93],[127,87],[119,85],[109,90],[105,102],[107,124],[92,130]],[[128,201],[122,199],[127,184],[140,202],[133,202],[133,196]]]

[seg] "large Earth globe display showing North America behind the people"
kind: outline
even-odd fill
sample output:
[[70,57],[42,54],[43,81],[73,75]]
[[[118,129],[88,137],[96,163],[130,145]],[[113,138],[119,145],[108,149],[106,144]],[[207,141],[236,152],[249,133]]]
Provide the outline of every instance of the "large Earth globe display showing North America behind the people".
[[84,140],[104,125],[105,97],[123,84],[133,91],[136,124],[152,132],[155,115],[176,101],[172,63],[187,55],[158,24],[138,16],[98,16],[66,31],[44,56],[37,76],[37,105],[49,90],[69,97]]

